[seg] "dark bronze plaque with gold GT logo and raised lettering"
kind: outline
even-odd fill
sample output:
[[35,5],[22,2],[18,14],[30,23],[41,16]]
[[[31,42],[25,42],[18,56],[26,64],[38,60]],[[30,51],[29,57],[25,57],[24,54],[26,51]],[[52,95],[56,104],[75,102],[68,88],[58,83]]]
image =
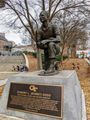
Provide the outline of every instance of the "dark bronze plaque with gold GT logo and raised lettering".
[[62,86],[11,83],[7,108],[62,118]]

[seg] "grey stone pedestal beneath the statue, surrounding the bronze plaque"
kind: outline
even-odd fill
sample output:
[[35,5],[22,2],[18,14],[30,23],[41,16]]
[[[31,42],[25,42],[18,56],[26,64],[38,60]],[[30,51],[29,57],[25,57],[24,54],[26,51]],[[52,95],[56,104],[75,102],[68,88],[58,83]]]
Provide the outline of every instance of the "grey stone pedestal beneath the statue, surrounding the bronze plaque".
[[39,76],[38,73],[39,71],[21,73],[8,79],[0,100],[0,113],[24,118],[25,120],[60,120],[59,118],[50,116],[7,109],[7,101],[11,82],[37,85],[62,85],[64,88],[62,120],[82,120],[82,90],[76,72],[64,70],[54,76]]

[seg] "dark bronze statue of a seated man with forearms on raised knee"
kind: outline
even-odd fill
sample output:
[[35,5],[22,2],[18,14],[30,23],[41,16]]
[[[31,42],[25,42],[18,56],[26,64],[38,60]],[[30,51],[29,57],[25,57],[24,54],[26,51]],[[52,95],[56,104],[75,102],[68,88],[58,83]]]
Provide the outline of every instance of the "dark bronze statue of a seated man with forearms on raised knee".
[[60,35],[59,28],[50,23],[48,12],[40,13],[41,27],[37,31],[37,47],[44,50],[44,74],[54,74],[57,71],[56,55],[60,52]]

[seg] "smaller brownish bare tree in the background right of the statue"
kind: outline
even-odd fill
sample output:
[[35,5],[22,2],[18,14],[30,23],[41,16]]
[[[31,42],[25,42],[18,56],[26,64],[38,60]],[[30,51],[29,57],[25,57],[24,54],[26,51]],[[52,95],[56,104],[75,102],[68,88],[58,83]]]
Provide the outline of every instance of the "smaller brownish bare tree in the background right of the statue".
[[69,51],[71,49],[72,56],[75,57],[77,45],[82,45],[85,48],[87,42],[87,34],[85,31],[85,26],[87,22],[85,17],[82,15],[76,16],[75,13],[69,14],[64,11],[62,15],[57,15],[56,17],[60,21],[60,37],[62,41],[62,51],[63,55],[64,48],[67,47]]

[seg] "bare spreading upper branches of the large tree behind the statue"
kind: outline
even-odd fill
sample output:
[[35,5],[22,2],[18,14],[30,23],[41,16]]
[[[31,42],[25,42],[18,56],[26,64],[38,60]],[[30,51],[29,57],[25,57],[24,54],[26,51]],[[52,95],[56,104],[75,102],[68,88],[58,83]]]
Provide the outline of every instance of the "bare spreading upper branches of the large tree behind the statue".
[[83,14],[89,12],[87,0],[6,0],[5,3],[5,10],[10,11],[10,14],[15,16],[14,19],[9,22],[10,27],[15,25],[17,21],[20,21],[23,25],[22,27],[29,32],[32,38],[32,44],[33,40],[35,41],[36,39],[35,31],[38,28],[37,16],[41,10],[47,10],[49,12],[49,21],[51,21],[57,13],[62,14],[63,11],[69,11],[70,13],[77,11]]

